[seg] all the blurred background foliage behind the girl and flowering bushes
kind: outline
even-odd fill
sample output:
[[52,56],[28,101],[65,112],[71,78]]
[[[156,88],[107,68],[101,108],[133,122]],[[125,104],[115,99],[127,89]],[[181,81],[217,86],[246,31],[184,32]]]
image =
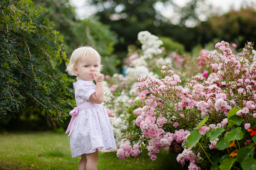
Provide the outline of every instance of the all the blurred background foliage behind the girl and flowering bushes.
[[[255,4],[247,4],[239,11],[231,10],[219,15],[219,9],[213,9],[203,0],[192,0],[184,7],[177,6],[171,0],[88,0],[88,4],[96,7],[97,11],[83,19],[77,16],[69,0],[33,2],[33,7],[42,5],[46,8],[40,12],[37,20],[53,23],[54,30],[63,36],[62,44],[68,47],[67,58],[79,46],[92,46],[102,56],[102,73],[110,76],[121,72],[122,61],[129,57],[128,46],[141,47],[137,40],[140,31],[147,30],[158,36],[163,41],[162,47],[165,47],[166,54],[173,51],[180,55],[184,52],[193,53],[219,40],[236,43],[238,48],[242,48],[246,41],[256,41]],[[0,2],[0,5],[3,3]],[[168,10],[172,16],[164,13]],[[49,40],[49,37],[46,39]],[[65,62],[63,60],[54,67],[65,73]],[[71,83],[69,87],[72,88]],[[69,118],[62,123],[51,121],[53,126],[48,126],[46,122],[41,112],[31,112],[26,116],[20,112],[15,118],[0,120],[0,132],[65,129]]]

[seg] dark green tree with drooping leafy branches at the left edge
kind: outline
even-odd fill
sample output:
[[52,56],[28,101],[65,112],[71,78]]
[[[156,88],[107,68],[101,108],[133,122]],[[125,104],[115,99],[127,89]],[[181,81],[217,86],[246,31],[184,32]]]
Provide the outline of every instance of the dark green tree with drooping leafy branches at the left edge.
[[68,61],[63,36],[47,18],[38,20],[41,5],[30,0],[0,4],[0,118],[41,112],[48,119],[68,116],[71,79],[55,66]]

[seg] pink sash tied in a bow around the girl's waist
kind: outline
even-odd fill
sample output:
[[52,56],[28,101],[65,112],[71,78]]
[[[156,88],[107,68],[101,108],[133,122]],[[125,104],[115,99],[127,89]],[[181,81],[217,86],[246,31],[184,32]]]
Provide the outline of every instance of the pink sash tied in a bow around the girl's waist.
[[86,102],[86,103],[80,104],[77,107],[74,107],[73,110],[69,112],[69,114],[72,117],[71,117],[71,120],[69,122],[67,131],[66,131],[65,134],[67,134],[69,132],[68,136],[70,136],[71,133],[73,132],[74,126],[75,126],[75,118],[76,118],[76,115],[78,114],[79,111],[81,111],[83,109],[86,109],[86,108],[89,108],[89,107],[98,106],[98,105],[101,105],[101,104],[96,104],[96,103],[93,103],[93,102]]

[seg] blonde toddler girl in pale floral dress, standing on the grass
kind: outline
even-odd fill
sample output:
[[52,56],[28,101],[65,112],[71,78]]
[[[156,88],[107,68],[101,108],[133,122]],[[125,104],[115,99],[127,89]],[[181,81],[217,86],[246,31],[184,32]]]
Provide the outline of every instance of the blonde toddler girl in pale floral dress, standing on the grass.
[[116,149],[109,120],[114,115],[101,104],[104,97],[101,68],[99,53],[91,47],[80,47],[71,54],[66,69],[69,75],[77,76],[73,83],[77,107],[69,113],[72,117],[66,133],[71,135],[72,158],[82,157],[78,170],[97,170],[98,150]]

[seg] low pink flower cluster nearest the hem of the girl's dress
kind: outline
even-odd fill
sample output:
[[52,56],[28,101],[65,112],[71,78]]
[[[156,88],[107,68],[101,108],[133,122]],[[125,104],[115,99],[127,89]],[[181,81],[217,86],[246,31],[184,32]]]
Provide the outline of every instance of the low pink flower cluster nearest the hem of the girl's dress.
[[117,149],[116,155],[120,160],[124,160],[130,154],[134,157],[137,157],[141,152],[138,145],[130,146],[130,141],[121,140],[119,149]]

